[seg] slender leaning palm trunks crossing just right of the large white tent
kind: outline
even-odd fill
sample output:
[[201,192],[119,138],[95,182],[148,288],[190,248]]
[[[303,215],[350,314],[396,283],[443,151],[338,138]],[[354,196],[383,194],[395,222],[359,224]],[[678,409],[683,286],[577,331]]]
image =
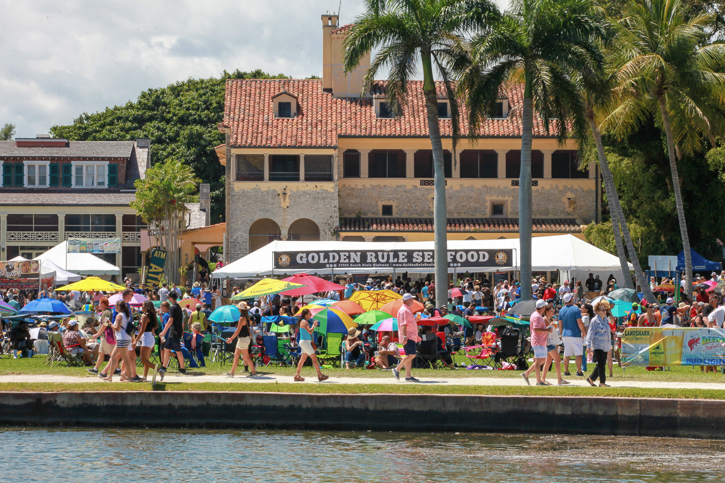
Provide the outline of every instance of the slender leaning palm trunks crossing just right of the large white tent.
[[[624,238],[624,243],[626,243],[627,245],[627,251],[629,251],[629,256],[631,256],[632,259],[634,274],[637,277],[637,282],[639,283],[639,286],[642,287],[642,291],[645,293],[645,299],[647,299],[647,302],[655,303],[657,302],[657,299],[655,298],[655,294],[652,293],[652,290],[650,290],[650,281],[645,280],[645,272],[642,271],[642,265],[639,264],[639,257],[637,256],[637,251],[635,251],[634,249],[634,243],[632,243],[632,238],[629,234],[629,227],[627,227],[626,218],[624,217],[624,211],[622,211],[622,205],[619,202],[619,195],[617,193],[617,188],[614,185],[614,178],[612,176],[612,172],[609,169],[609,161],[607,161],[607,156],[604,154],[602,135],[599,132],[599,128],[597,127],[597,123],[595,122],[593,113],[589,114],[589,127],[591,127],[592,129],[592,135],[594,136],[595,144],[597,145],[597,156],[599,158],[600,169],[602,169],[602,178],[604,179],[604,187],[607,191],[607,199],[609,200],[610,210],[613,214],[616,214],[616,220],[619,224],[619,227],[621,228],[622,238]],[[612,224],[614,224],[614,219],[615,218],[612,217]],[[616,239],[615,243],[617,243]],[[617,253],[619,253],[619,247],[617,247]],[[624,254],[624,248],[622,253]],[[622,262],[622,254],[619,255],[619,261],[620,263]],[[622,264],[622,269],[624,270],[624,267],[627,267],[626,272],[624,272],[626,276],[626,274],[629,274],[629,266],[626,264],[626,255],[624,261],[625,263]],[[629,282],[629,280],[625,280],[625,283],[626,282]],[[626,287],[629,287],[628,283],[626,283]],[[634,290],[637,290],[637,287],[634,287]]]

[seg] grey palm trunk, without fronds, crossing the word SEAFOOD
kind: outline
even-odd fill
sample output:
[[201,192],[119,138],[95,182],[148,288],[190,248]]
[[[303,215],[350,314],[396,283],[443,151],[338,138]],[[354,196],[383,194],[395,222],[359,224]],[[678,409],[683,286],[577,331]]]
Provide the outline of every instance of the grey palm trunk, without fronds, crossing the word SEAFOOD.
[[433,77],[431,54],[421,54],[423,64],[423,93],[426,96],[428,113],[428,135],[433,149],[434,198],[434,272],[436,282],[436,301],[442,303],[448,295],[448,234],[446,209],[446,178],[443,164],[443,144],[438,124],[438,94]]

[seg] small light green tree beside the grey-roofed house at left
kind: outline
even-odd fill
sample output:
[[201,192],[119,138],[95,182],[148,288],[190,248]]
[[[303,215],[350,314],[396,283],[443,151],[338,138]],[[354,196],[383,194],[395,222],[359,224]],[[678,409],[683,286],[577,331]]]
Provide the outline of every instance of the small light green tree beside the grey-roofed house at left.
[[134,183],[136,198],[130,206],[149,224],[157,245],[168,251],[164,272],[171,282],[178,282],[186,205],[196,201],[198,182],[183,161],[168,158],[147,169],[146,177]]

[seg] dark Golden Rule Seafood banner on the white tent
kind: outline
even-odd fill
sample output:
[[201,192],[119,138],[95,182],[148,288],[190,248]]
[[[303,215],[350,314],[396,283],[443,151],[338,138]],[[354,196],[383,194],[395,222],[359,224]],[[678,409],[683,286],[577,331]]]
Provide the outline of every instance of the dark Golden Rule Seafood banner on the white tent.
[[[276,251],[275,269],[405,269],[432,270],[433,250]],[[448,266],[510,268],[513,250],[449,250]]]

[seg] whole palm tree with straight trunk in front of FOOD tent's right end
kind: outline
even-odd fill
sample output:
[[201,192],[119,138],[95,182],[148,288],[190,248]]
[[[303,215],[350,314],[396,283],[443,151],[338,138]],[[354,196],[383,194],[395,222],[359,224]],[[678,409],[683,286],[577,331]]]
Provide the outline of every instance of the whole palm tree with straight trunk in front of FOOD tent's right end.
[[[492,28],[471,40],[469,66],[461,75],[471,132],[494,111],[502,87],[523,80],[518,230],[521,298],[531,298],[531,143],[534,111],[563,142],[586,128],[576,72],[603,64],[597,38],[606,24],[590,14],[587,0],[514,0]],[[462,62],[462,61],[458,61]],[[457,69],[460,67],[456,67]],[[552,122],[555,121],[555,122]]]

